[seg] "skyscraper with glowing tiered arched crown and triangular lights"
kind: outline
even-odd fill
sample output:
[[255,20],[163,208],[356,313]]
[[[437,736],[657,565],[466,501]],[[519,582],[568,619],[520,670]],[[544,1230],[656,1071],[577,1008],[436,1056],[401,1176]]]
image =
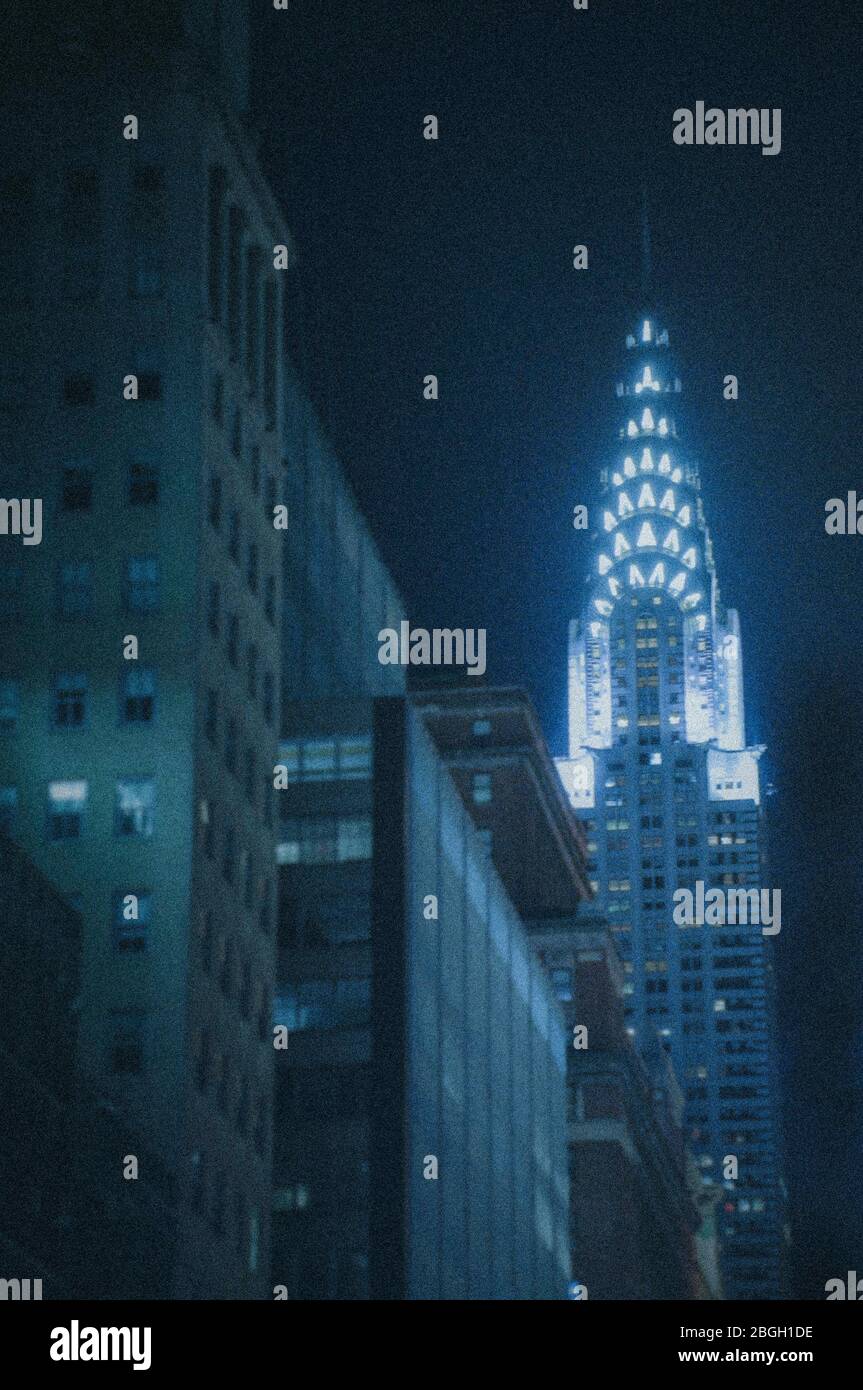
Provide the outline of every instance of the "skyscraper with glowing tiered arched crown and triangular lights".
[[[720,1209],[727,1298],[782,1293],[770,938],[741,924],[763,876],[762,748],[748,746],[738,616],[718,591],[667,329],[643,317],[617,385],[584,614],[570,628],[570,751],[598,908],[628,973],[628,1026],[659,1033],[687,1141]],[[703,888],[699,888],[699,883]],[[675,926],[674,892],[723,890],[727,922]],[[680,908],[681,902],[677,899]],[[712,924],[717,920],[717,924]],[[771,930],[769,927],[767,930]]]

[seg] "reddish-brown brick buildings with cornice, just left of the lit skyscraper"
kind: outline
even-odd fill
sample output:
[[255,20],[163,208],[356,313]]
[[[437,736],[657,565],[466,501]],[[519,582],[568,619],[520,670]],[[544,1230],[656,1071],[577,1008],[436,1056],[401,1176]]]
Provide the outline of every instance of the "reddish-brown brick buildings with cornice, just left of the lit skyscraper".
[[574,1280],[589,1298],[718,1297],[718,1193],[684,1148],[659,1038],[642,1061],[627,1034],[623,962],[586,901],[585,831],[528,696],[435,682],[414,698],[564,1011]]

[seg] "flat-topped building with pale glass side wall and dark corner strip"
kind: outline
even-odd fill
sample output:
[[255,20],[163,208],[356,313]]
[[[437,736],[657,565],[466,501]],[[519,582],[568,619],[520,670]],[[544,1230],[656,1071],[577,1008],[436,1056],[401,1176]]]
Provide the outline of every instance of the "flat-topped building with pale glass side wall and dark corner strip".
[[286,719],[274,1283],[566,1297],[563,1020],[486,844],[410,699]]

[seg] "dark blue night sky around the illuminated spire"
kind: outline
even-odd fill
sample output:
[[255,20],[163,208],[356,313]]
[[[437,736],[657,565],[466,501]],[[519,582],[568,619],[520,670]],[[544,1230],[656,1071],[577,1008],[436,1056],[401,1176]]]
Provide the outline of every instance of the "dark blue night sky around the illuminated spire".
[[[589,546],[573,507],[596,499],[623,338],[648,307],[646,185],[684,442],[777,788],[795,1294],[823,1298],[863,1268],[863,538],[824,531],[828,498],[863,496],[855,10],[252,3],[300,370],[411,623],[485,627],[489,678],[528,687],[554,753]],[[698,100],[781,107],[781,153],[675,146],[673,111]]]

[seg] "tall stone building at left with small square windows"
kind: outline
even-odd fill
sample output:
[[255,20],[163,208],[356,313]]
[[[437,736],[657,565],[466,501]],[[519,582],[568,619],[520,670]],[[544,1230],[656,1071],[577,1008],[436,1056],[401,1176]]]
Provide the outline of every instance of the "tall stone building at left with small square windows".
[[4,492],[43,499],[0,542],[3,819],[81,910],[79,1062],[175,1177],[174,1294],[215,1298],[270,1264],[289,238],[242,11],[24,7],[0,120]]

